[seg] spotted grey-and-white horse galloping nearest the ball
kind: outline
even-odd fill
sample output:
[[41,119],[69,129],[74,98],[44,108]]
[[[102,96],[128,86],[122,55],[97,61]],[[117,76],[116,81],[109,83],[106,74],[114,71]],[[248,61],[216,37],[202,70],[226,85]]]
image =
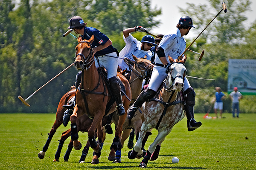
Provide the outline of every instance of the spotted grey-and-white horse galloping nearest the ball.
[[164,87],[154,96],[154,99],[150,99],[149,102],[143,104],[145,120],[141,126],[139,139],[134,149],[128,153],[129,159],[135,159],[137,154],[142,152],[141,147],[146,132],[151,128],[158,130],[157,137],[148,147],[139,167],[147,166],[148,160],[157,144],[161,144],[171,132],[172,127],[185,116],[183,112],[184,99],[183,95],[181,95],[181,90],[184,86],[184,77],[186,75],[186,67],[184,65],[186,56],[179,61],[172,59],[172,57],[169,57],[169,60],[172,65],[164,82]]

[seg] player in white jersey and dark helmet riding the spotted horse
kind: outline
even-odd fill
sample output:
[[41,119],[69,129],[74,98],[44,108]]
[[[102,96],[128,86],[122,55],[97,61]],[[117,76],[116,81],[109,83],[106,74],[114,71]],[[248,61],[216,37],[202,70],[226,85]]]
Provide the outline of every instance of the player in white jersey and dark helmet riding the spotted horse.
[[[128,109],[128,119],[131,120],[137,109],[157,93],[157,89],[168,75],[166,74],[166,70],[168,70],[171,65],[168,57],[171,56],[173,59],[177,59],[180,54],[185,51],[186,40],[183,36],[187,35],[192,27],[195,28],[193,26],[192,18],[188,16],[181,17],[176,27],[177,28],[175,30],[169,31],[158,45],[155,66],[153,68],[148,88],[141,92],[134,104]],[[186,96],[186,105],[184,108],[188,119],[188,131],[193,131],[200,127],[202,123],[196,122],[194,119],[195,91],[190,86],[186,77],[184,79],[183,92]]]

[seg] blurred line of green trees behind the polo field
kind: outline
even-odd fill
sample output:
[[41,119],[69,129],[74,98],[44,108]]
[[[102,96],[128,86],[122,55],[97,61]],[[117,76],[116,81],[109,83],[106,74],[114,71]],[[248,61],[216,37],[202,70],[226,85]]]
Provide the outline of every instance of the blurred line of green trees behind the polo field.
[[[221,10],[221,1],[208,1],[209,6],[188,3],[188,8],[179,8],[183,15],[193,18],[198,34]],[[189,78],[197,92],[196,113],[204,113],[211,107],[216,86],[227,91],[228,59],[256,59],[256,21],[244,25],[251,2],[225,3],[227,14],[219,14],[190,48],[204,49],[202,61],[198,62],[198,54],[186,53],[188,75],[215,79]],[[161,9],[151,6],[150,0],[21,0],[19,4],[0,0],[0,113],[56,111],[61,96],[74,85],[78,72],[74,67],[32,96],[28,100],[31,107],[23,105],[17,96],[26,99],[74,61],[77,40],[71,35],[62,37],[71,17],[81,16],[87,26],[102,31],[121,51],[125,46],[123,29],[140,25],[150,30],[160,24],[156,19],[160,14]],[[133,34],[138,40],[144,35]],[[187,45],[192,42],[186,40]],[[255,96],[245,96],[241,111],[256,113],[255,103]],[[224,100],[224,110],[231,112],[230,99]]]

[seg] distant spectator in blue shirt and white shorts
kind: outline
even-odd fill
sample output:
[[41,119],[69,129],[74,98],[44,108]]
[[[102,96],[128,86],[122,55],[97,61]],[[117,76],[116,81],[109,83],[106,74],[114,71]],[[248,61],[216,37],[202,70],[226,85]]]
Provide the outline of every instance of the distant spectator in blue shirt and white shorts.
[[[226,94],[221,92],[220,87],[216,87],[216,93],[215,93],[215,103],[214,103],[214,112],[216,114],[217,118],[221,118],[222,116],[222,110],[223,110],[223,102],[222,100],[226,97]],[[220,116],[218,117],[217,109],[220,111]]]

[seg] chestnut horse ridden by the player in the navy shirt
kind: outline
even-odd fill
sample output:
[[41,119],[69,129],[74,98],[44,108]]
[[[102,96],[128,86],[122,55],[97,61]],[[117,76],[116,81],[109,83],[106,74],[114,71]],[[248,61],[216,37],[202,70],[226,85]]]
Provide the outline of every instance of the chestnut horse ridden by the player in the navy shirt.
[[[78,130],[76,120],[84,113],[89,118],[93,119],[93,122],[88,130],[88,139],[90,141],[90,147],[96,152],[101,150],[99,143],[103,139],[103,131],[101,121],[103,116],[106,116],[115,111],[116,103],[111,106],[109,111],[106,112],[106,106],[111,100],[109,95],[107,84],[99,73],[95,65],[93,57],[93,48],[91,42],[93,42],[94,36],[90,40],[82,40],[81,36],[78,38],[79,44],[76,46],[76,60],[75,65],[78,70],[82,70],[82,80],[79,86],[79,91],[76,92],[76,105],[72,116],[70,116],[71,122],[71,139],[73,139],[73,146],[76,150],[81,149],[81,143],[78,141]],[[117,74],[117,77],[122,81],[125,88],[125,96],[122,96],[123,105],[125,111],[127,111],[131,98],[131,88],[128,80],[122,75]],[[111,150],[117,150],[119,145],[119,138],[122,133],[122,125],[125,122],[126,113],[119,116],[119,121],[116,126],[115,138],[111,145]],[[97,136],[99,143],[95,140],[95,130],[97,129]],[[113,153],[113,152],[111,152]],[[110,153],[110,154],[111,154]],[[111,156],[111,155],[110,155]]]

